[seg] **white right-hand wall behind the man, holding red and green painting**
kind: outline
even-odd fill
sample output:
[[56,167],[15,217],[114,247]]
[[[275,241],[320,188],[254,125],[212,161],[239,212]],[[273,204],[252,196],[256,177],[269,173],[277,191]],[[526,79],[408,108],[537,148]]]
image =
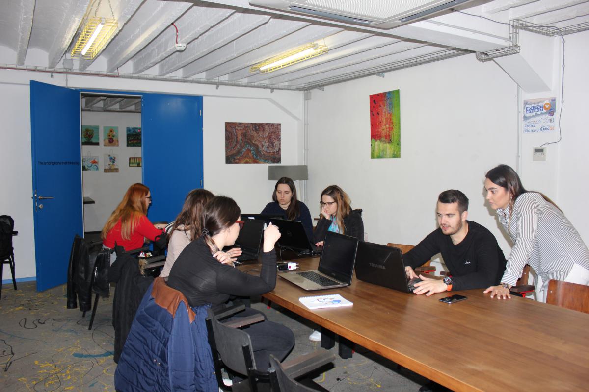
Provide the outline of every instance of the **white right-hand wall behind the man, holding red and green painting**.
[[[401,158],[370,159],[369,95],[400,89]],[[436,228],[438,194],[459,189],[469,219],[488,227],[485,172],[516,159],[515,83],[493,63],[465,55],[313,91],[309,105],[309,199],[342,186],[362,208],[370,242],[416,244]]]

